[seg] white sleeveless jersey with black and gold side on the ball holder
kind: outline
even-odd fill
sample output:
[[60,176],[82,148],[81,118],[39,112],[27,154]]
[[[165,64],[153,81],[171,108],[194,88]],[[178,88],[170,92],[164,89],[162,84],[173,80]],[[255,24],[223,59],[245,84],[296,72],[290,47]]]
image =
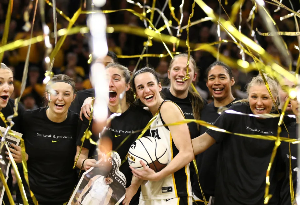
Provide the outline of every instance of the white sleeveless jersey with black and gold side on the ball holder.
[[[169,153],[169,164],[179,151],[174,145],[168,127],[161,126],[163,124],[165,123],[159,112],[156,119],[150,125],[150,135],[157,138],[158,143],[165,143]],[[187,196],[192,196],[189,164],[160,181],[147,181],[141,185],[140,198],[144,200],[169,199]]]

